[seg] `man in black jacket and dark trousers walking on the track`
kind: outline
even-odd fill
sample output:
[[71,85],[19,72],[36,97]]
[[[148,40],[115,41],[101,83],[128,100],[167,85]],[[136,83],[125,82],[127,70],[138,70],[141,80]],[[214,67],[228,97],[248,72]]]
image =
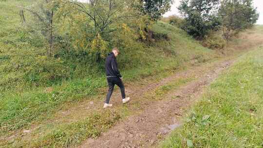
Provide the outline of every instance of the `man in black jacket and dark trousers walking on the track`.
[[113,106],[112,104],[109,104],[109,102],[110,102],[110,98],[112,96],[115,84],[121,90],[122,103],[126,103],[130,100],[130,97],[127,97],[127,98],[125,97],[125,89],[122,83],[122,76],[118,70],[116,57],[118,56],[119,53],[120,53],[119,50],[115,47],[113,48],[113,51],[106,58],[105,70],[106,70],[107,81],[109,85],[109,92],[106,96],[106,100],[105,100],[103,108]]

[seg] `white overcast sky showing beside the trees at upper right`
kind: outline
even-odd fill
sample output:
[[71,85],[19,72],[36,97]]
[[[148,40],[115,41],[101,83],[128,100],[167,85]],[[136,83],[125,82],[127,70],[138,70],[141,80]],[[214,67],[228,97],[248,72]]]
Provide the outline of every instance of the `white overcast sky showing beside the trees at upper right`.
[[[179,15],[177,7],[180,4],[180,0],[174,0],[174,4],[171,7],[171,11],[167,12],[164,16],[168,17],[170,15]],[[257,7],[258,12],[260,13],[259,20],[257,24],[263,24],[263,0],[254,0],[254,5]]]

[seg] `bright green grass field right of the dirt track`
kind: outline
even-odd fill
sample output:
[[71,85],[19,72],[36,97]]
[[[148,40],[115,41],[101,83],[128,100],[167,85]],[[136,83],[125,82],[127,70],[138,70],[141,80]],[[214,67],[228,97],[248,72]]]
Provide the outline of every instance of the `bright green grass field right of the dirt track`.
[[161,148],[262,148],[263,48],[245,54],[207,89]]

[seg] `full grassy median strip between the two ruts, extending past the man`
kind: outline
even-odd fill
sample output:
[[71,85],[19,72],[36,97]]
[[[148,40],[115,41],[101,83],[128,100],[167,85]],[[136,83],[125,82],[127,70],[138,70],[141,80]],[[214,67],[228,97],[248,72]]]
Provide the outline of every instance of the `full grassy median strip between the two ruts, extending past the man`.
[[[119,120],[125,119],[129,115],[134,115],[143,110],[140,100],[152,102],[165,99],[166,94],[178,88],[180,85],[191,81],[192,75],[187,78],[179,78],[169,83],[146,92],[138,100],[132,101],[128,106],[117,106],[113,110],[96,111],[88,114],[88,117],[79,117],[77,121],[49,123],[35,128],[30,136],[17,136],[12,141],[3,141],[3,148],[72,148],[81,144],[87,138],[96,138],[103,131],[111,128]],[[136,111],[130,111],[129,108]],[[75,114],[72,114],[75,115]],[[70,117],[69,117],[70,118]]]

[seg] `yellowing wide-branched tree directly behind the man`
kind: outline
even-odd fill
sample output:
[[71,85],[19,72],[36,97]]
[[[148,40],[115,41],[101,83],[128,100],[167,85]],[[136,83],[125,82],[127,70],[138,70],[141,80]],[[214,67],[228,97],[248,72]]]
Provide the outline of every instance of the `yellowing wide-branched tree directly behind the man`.
[[123,24],[140,19],[134,4],[136,0],[60,0],[59,14],[70,21],[65,30],[70,31],[74,49],[84,50],[100,62],[112,44],[113,34]]

